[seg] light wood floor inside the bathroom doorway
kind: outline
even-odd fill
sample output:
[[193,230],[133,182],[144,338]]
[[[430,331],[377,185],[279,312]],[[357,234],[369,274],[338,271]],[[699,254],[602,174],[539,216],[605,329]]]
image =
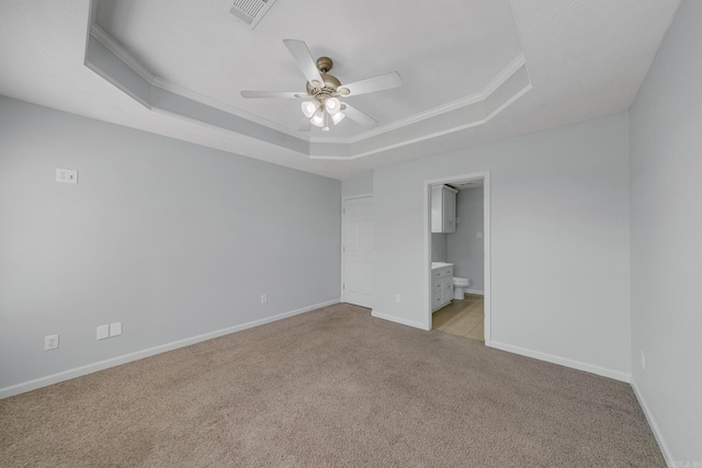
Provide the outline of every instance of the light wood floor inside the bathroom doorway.
[[483,296],[466,294],[465,299],[453,299],[432,315],[432,328],[471,340],[485,341]]

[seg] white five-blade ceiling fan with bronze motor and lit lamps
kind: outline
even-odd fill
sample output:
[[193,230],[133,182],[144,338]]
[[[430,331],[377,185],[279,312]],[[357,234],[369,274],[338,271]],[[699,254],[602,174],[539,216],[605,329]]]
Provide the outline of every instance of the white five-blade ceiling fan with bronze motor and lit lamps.
[[283,43],[307,79],[307,91],[241,91],[241,95],[244,98],[302,99],[303,113],[307,118],[301,125],[301,132],[308,132],[312,125],[320,127],[322,132],[329,132],[329,119],[337,125],[344,117],[349,117],[364,128],[374,127],[377,125],[375,119],[350,104],[341,102],[339,98],[387,90],[403,84],[397,71],[341,84],[337,77],[329,75],[333,65],[329,57],[319,57],[314,60],[303,41],[284,39]]

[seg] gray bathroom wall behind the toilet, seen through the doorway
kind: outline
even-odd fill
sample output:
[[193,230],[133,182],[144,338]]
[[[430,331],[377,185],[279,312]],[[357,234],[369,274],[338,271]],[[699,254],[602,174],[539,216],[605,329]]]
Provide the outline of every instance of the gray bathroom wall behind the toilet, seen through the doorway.
[[448,259],[454,264],[453,275],[471,279],[468,290],[482,293],[484,283],[483,189],[458,191],[456,197],[456,231],[446,235]]

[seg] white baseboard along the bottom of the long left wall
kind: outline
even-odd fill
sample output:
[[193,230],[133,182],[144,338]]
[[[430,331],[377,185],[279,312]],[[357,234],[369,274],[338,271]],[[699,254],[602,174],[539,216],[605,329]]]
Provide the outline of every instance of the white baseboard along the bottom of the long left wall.
[[278,316],[267,317],[264,319],[254,320],[252,322],[242,323],[235,327],[228,327],[222,330],[215,330],[208,333],[199,334],[196,336],[186,338],[184,340],[174,341],[172,343],[166,343],[158,346],[149,347],[147,350],[136,351],[129,354],[123,354],[122,356],[111,357],[109,359],[100,361],[97,363],[88,364],[72,369],[64,370],[57,374],[52,374],[45,377],[39,377],[34,380],[16,384],[10,387],[0,388],[0,399],[12,397],[14,395],[24,393],[26,391],[36,390],[37,388],[47,387],[59,381],[69,380],[71,378],[80,377],[87,374],[92,374],[98,370],[107,369],[110,367],[120,366],[122,364],[131,363],[133,361],[143,359],[145,357],[154,356],[156,354],[166,353],[167,351],[178,350],[179,347],[190,346],[191,344],[200,343],[202,341],[212,340],[213,338],[224,336],[225,334],[236,333],[253,327],[259,327],[265,323],[271,323],[278,320],[286,319],[288,317],[297,316],[299,313],[309,312],[314,309],[321,307],[332,306],[339,304],[340,299],[328,300],[326,303],[315,304],[313,306],[303,307],[299,309],[291,310],[287,312],[279,313]]

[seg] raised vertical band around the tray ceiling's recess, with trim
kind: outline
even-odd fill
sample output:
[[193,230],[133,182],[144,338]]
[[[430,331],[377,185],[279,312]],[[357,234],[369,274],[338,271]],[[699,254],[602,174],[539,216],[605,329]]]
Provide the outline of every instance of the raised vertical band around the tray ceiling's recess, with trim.
[[[103,49],[101,53],[95,49],[94,54],[98,55],[93,54],[93,58],[97,61],[87,58],[86,66],[151,111],[199,125],[216,126],[233,135],[258,138],[260,142],[278,145],[294,152],[302,150],[310,159],[353,160],[483,125],[532,89],[526,60],[524,54],[520,53],[483,90],[474,94],[353,137],[305,138],[297,130],[155,76],[94,22],[90,25],[89,41],[90,37],[100,43]],[[106,58],[107,55],[113,58]],[[115,75],[111,75],[110,70]],[[127,81],[123,82],[125,76]],[[139,80],[146,84],[138,83]],[[500,104],[500,101],[505,102]],[[495,105],[498,106],[491,110]],[[238,123],[233,124],[237,119]],[[307,149],[303,150],[305,145]],[[314,146],[319,146],[317,149],[320,153],[314,153]]]

